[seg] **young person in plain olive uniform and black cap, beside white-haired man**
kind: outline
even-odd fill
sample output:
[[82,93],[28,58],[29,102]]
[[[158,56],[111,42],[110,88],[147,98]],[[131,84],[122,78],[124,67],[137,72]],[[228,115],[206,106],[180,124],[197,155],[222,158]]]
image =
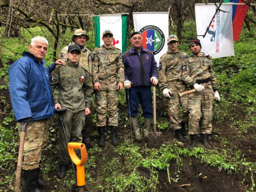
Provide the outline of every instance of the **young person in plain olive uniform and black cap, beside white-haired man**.
[[[58,65],[51,73],[52,93],[55,110],[66,107],[62,113],[68,142],[82,143],[82,129],[85,126],[85,115],[90,114],[92,84],[88,72],[79,65],[81,50],[77,44],[68,46],[68,62]],[[57,91],[59,90],[59,95]],[[59,168],[57,177],[63,179],[70,159],[66,146],[63,127],[59,127]]]

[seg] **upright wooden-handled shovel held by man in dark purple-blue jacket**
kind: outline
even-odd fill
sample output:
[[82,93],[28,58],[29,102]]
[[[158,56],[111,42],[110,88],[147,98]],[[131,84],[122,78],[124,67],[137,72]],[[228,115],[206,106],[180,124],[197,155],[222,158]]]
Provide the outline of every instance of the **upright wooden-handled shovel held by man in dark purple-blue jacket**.
[[162,146],[162,133],[157,132],[157,109],[155,104],[155,86],[153,86],[153,109],[154,109],[154,132],[149,132],[149,148],[160,148]]

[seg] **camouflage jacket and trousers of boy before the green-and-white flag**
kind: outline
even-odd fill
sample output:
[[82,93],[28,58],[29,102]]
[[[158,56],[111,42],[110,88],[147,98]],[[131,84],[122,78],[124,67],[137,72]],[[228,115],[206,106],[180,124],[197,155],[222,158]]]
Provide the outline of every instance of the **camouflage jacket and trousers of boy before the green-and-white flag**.
[[111,46],[94,49],[93,82],[101,84],[101,90],[96,91],[97,126],[106,125],[108,109],[108,125],[118,126],[118,83],[124,82],[124,65],[121,50]]

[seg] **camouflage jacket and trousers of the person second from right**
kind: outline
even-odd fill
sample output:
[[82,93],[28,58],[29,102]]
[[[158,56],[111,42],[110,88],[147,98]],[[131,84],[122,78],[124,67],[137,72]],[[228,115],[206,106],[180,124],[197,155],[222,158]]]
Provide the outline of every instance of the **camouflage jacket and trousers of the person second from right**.
[[[186,65],[188,55],[185,52],[171,52],[168,50],[160,59],[161,68],[159,69],[159,85],[163,91],[168,88],[172,92],[170,110],[172,126],[174,130],[180,129],[181,122],[187,121],[188,105],[187,96],[179,97],[179,93],[187,90],[187,85],[182,81],[182,66]],[[180,103],[182,104],[183,116],[180,119]]]

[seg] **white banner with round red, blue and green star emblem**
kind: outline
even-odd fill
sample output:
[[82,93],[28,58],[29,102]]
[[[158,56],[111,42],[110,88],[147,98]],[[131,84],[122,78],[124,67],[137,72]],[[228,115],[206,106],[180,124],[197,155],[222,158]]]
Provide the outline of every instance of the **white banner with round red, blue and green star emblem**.
[[135,31],[143,37],[143,48],[154,52],[155,61],[159,64],[160,57],[168,50],[168,12],[133,13]]

